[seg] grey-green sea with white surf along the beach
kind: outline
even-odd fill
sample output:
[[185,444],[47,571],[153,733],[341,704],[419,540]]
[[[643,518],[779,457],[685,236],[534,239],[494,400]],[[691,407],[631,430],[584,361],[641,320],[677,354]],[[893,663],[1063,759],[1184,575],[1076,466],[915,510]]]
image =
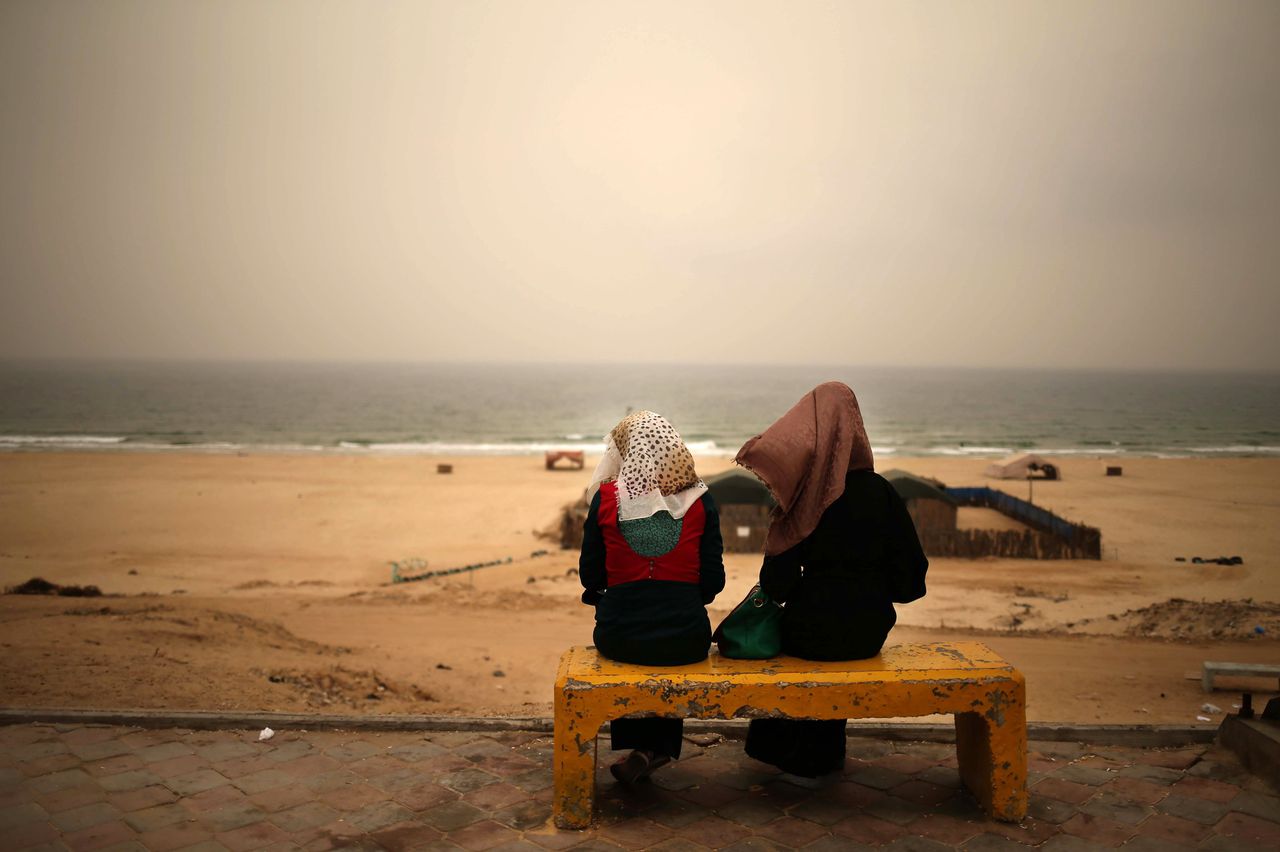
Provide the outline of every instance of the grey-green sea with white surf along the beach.
[[960,367],[0,363],[0,452],[598,453],[628,411],[732,455],[814,385],[881,457],[1271,457],[1280,374]]

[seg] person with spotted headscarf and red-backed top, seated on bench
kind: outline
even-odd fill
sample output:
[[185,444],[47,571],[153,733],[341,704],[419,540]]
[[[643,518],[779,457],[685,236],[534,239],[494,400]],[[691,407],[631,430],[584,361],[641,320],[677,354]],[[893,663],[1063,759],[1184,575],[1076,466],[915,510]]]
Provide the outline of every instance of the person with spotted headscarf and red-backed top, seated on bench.
[[[724,587],[719,514],[680,435],[641,411],[609,432],[590,487],[579,576],[595,606],[595,647],[611,660],[686,665],[707,659],[707,604]],[[684,720],[616,719],[611,766],[623,783],[680,757]]]

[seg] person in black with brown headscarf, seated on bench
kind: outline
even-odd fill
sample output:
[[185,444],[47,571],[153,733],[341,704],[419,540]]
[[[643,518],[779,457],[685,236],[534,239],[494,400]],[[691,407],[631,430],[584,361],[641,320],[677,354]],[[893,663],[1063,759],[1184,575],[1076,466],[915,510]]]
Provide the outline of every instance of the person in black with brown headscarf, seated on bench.
[[[737,462],[773,493],[760,586],[783,604],[782,650],[808,660],[879,654],[893,604],[924,595],[928,560],[906,507],[876,473],[858,399],[818,385]],[[746,753],[795,775],[845,762],[845,720],[756,719]]]

